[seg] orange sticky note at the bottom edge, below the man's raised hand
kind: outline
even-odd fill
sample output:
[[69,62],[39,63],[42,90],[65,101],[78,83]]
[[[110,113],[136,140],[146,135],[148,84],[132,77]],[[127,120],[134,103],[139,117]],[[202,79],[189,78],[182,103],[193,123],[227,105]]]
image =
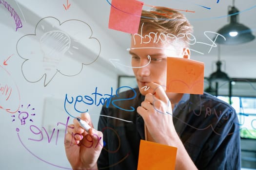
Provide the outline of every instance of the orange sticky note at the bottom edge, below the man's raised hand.
[[177,148],[140,140],[137,170],[174,170]]

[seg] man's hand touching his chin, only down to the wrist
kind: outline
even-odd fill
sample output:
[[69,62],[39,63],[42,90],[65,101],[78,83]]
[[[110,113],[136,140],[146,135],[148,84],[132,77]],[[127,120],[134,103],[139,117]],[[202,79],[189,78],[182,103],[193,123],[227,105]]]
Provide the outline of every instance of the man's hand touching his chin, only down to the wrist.
[[170,145],[171,139],[178,137],[173,124],[171,102],[161,85],[151,82],[148,86],[154,92],[146,94],[137,112],[144,119],[154,142]]

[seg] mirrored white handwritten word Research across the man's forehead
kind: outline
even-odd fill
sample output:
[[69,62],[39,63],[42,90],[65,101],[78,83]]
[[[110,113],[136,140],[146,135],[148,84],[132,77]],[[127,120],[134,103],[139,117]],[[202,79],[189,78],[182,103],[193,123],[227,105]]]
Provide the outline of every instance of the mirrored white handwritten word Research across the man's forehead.
[[[168,42],[170,40],[173,43],[176,43],[181,38],[184,38],[186,36],[186,38],[188,38],[191,41],[191,42],[188,42],[189,45],[195,45],[197,43],[197,44],[204,44],[206,46],[210,46],[210,49],[208,51],[208,53],[210,53],[213,47],[217,47],[217,44],[215,42],[216,42],[218,36],[220,36],[220,37],[224,38],[224,40],[226,40],[226,38],[223,35],[215,33],[215,32],[211,32],[211,31],[205,31],[204,35],[206,36],[207,39],[210,40],[210,42],[212,44],[208,44],[208,43],[197,41],[197,38],[193,34],[191,34],[191,33],[188,33],[188,34],[179,33],[176,36],[176,35],[171,34],[171,33],[168,33],[168,34],[160,33],[160,34],[158,34],[158,32],[157,33],[150,32],[150,33],[144,35],[143,34],[143,25],[144,25],[144,23],[142,23],[142,26],[141,26],[141,29],[140,29],[140,34],[138,34],[138,33],[133,34],[134,45],[136,45],[135,36],[139,36],[140,37],[140,44],[142,44],[142,43],[143,44],[147,44],[147,43],[151,42],[152,39],[153,39],[154,43],[158,43],[158,42],[165,43],[165,42]],[[209,37],[209,34],[216,35],[214,41]],[[195,52],[200,53],[200,54],[204,54],[204,53],[202,53],[200,51],[196,51],[196,50],[193,50],[193,49],[190,49],[190,50],[191,51],[195,51]]]

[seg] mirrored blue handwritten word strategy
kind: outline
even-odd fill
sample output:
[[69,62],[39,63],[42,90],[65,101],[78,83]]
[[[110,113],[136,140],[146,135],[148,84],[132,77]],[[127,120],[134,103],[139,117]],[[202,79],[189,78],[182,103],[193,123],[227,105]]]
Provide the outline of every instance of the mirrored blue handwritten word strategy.
[[[127,110],[127,109],[124,109],[124,108],[121,108],[119,107],[118,105],[116,105],[115,102],[118,102],[118,101],[125,101],[125,100],[132,100],[136,97],[137,93],[136,91],[132,88],[132,87],[129,87],[129,86],[121,86],[119,87],[117,90],[116,90],[116,95],[118,97],[118,90],[122,89],[122,88],[126,88],[127,89],[132,89],[134,91],[134,96],[132,98],[125,98],[125,99],[115,99],[115,100],[112,100],[112,97],[113,97],[113,87],[111,87],[110,89],[110,93],[109,94],[101,94],[98,92],[98,87],[95,88],[95,91],[93,93],[91,93],[92,96],[88,96],[88,95],[84,95],[84,96],[81,96],[81,95],[78,95],[76,97],[69,97],[68,94],[66,94],[65,96],[65,102],[64,102],[64,108],[66,110],[66,112],[72,116],[68,111],[67,111],[67,105],[68,104],[72,104],[74,106],[74,110],[75,112],[79,112],[79,113],[83,113],[83,112],[88,112],[88,109],[79,109],[78,108],[78,105],[80,104],[85,104],[85,105],[95,105],[95,106],[99,106],[99,105],[104,105],[105,102],[106,102],[106,107],[109,107],[110,103],[117,107],[118,109],[121,109],[121,110],[125,110],[125,111],[134,111],[134,107],[130,107],[131,110]],[[83,107],[84,108],[84,107]],[[86,108],[86,107],[85,107]],[[74,116],[72,116],[74,117]]]

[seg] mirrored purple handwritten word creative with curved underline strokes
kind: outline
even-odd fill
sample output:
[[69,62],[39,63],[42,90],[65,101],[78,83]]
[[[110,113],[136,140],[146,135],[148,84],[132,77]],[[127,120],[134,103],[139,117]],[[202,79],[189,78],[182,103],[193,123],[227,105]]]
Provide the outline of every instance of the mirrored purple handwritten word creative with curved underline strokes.
[[[56,128],[53,128],[53,129],[50,130],[50,131],[49,131],[49,130],[47,131],[44,126],[42,126],[42,127],[39,128],[39,126],[37,126],[37,125],[30,125],[29,131],[30,131],[31,133],[29,133],[29,137],[28,137],[28,138],[26,138],[26,137],[25,137],[25,138],[26,138],[27,141],[29,141],[29,142],[31,142],[31,143],[35,143],[35,144],[37,143],[37,144],[39,144],[39,145],[42,145],[42,144],[43,144],[43,145],[47,145],[47,146],[56,146],[56,145],[58,145],[58,144],[59,144],[59,139],[60,139],[60,140],[64,140],[64,141],[60,141],[60,144],[63,145],[63,143],[66,142],[66,141],[65,141],[65,136],[66,136],[66,134],[67,134],[68,128],[74,129],[74,127],[73,127],[73,126],[69,126],[69,124],[70,124],[70,117],[67,117],[67,119],[66,119],[65,122],[58,122],[58,123],[56,124],[57,127],[56,127]],[[65,128],[65,130],[64,130],[64,135],[65,135],[64,138],[63,138],[63,136],[59,135],[59,134],[60,134],[60,129],[62,130],[62,129],[63,129],[63,126],[64,126],[64,128]],[[47,160],[47,159],[49,159],[49,157],[43,158],[43,157],[41,157],[41,155],[39,155],[39,153],[32,151],[32,150],[29,148],[31,145],[27,145],[27,146],[26,146],[25,143],[27,143],[27,142],[25,142],[25,140],[20,137],[20,133],[19,133],[19,132],[20,132],[20,129],[19,129],[19,128],[16,128],[16,131],[17,131],[17,136],[18,136],[18,138],[19,138],[19,141],[20,141],[21,145],[22,145],[29,153],[31,153],[33,156],[35,156],[36,158],[38,158],[40,161],[42,161],[42,162],[44,162],[44,163],[47,163],[47,164],[49,164],[49,165],[51,165],[51,166],[57,167],[57,168],[61,168],[61,169],[65,169],[65,170],[71,170],[71,169],[68,168],[68,167],[63,167],[63,166],[60,166],[60,165],[58,165],[58,164],[52,162],[52,160]],[[92,136],[90,136],[89,134],[87,134],[87,135],[83,136],[83,139],[87,141],[87,144],[85,145],[85,144],[82,144],[82,143],[81,143],[80,146],[81,146],[81,147],[85,147],[85,148],[92,148],[92,147],[96,148],[96,147],[100,146],[100,147],[102,147],[105,151],[107,151],[107,152],[109,152],[109,153],[116,153],[116,152],[118,152],[118,150],[119,150],[119,148],[120,148],[120,136],[118,135],[118,132],[115,131],[113,128],[110,128],[110,127],[105,127],[105,128],[103,128],[103,129],[102,129],[102,133],[103,133],[104,131],[108,131],[107,133],[111,133],[111,134],[113,134],[113,135],[115,135],[115,136],[117,137],[117,139],[118,139],[118,145],[117,145],[117,149],[116,149],[115,151],[108,150],[107,147],[106,147],[107,143],[106,143],[105,141],[103,141],[103,144],[102,144],[101,140],[102,140],[103,138],[102,138],[102,137],[99,137],[99,136],[96,135],[96,134],[93,134],[93,136],[98,137],[98,140],[97,140],[97,141],[92,140]],[[62,132],[62,133],[63,133],[63,132]],[[70,143],[70,145],[76,145],[76,144],[75,144],[76,142],[74,142],[76,136],[81,136],[81,134],[78,134],[78,133],[74,134],[74,133],[72,133],[72,138],[71,138],[71,143]],[[46,142],[46,144],[45,144],[45,142]],[[52,143],[53,143],[53,144],[55,143],[55,145],[51,145]],[[54,147],[54,148],[56,148],[56,147]],[[52,148],[52,150],[49,151],[49,152],[53,152],[54,148]],[[46,150],[45,152],[47,152],[47,150]],[[126,158],[129,156],[129,154],[130,154],[130,153],[127,153],[121,160],[119,160],[119,161],[116,162],[116,163],[113,163],[113,164],[110,165],[109,167],[112,167],[112,166],[114,166],[114,165],[116,165],[116,164],[122,162],[124,159],[126,159]],[[106,167],[106,168],[108,168],[108,167]]]

